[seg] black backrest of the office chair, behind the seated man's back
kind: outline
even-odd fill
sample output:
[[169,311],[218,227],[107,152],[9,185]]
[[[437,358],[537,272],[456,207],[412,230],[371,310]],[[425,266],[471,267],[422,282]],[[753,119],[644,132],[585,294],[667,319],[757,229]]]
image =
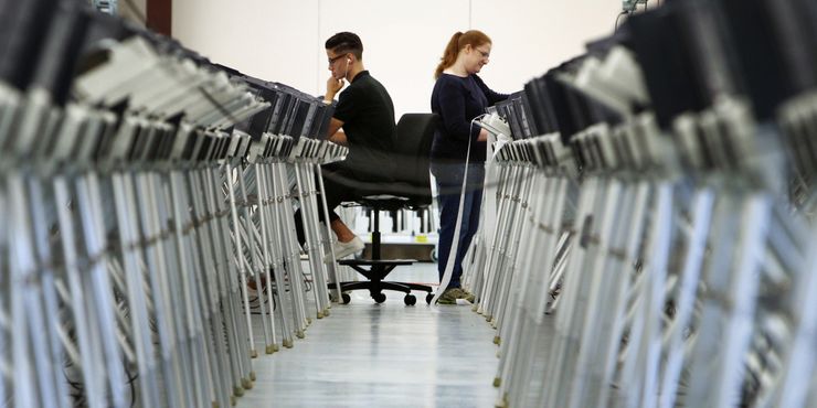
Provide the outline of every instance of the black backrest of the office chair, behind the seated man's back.
[[[394,143],[394,181],[427,187],[431,197],[432,141],[439,117],[436,114],[404,114],[397,121],[397,137]],[[425,195],[425,194],[411,194]]]

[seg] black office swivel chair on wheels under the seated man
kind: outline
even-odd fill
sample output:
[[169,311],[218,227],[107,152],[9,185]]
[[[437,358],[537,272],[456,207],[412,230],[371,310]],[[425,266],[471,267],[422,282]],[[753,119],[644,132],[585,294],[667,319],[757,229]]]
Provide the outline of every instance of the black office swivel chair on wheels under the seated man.
[[[371,208],[374,217],[372,228],[372,259],[343,259],[338,265],[346,265],[363,275],[368,281],[340,282],[341,291],[367,289],[372,299],[382,303],[385,301],[383,290],[395,290],[405,293],[403,301],[413,305],[417,299],[411,294],[412,290],[428,292],[426,302],[433,298],[432,288],[425,284],[384,281],[385,277],[396,267],[412,265],[414,259],[381,259],[381,211],[396,212],[399,210],[422,210],[432,204],[429,153],[434,130],[439,118],[435,114],[405,114],[397,121],[397,137],[395,140],[394,182],[367,183],[358,189],[358,195],[363,198],[356,203]],[[335,283],[330,283],[330,288]],[[343,303],[351,298],[342,293]]]

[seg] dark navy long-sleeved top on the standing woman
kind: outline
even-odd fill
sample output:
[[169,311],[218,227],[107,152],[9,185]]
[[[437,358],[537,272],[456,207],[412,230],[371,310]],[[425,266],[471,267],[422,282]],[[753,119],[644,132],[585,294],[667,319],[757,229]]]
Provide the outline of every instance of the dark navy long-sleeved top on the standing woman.
[[471,120],[485,114],[488,106],[507,98],[508,95],[488,88],[476,74],[466,77],[442,74],[432,92],[432,111],[442,119],[434,133],[432,160],[465,162],[470,138],[469,162],[485,162],[486,142],[477,142],[479,126],[471,126]]

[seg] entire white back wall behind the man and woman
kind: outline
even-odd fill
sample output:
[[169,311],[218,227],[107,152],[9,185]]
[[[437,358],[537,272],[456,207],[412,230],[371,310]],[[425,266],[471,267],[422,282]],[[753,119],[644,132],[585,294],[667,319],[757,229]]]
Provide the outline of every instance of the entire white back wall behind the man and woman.
[[494,40],[481,76],[513,92],[609,34],[619,10],[618,0],[173,0],[172,30],[216,63],[315,95],[329,76],[323,42],[356,32],[399,117],[431,109],[434,68],[458,30]]

